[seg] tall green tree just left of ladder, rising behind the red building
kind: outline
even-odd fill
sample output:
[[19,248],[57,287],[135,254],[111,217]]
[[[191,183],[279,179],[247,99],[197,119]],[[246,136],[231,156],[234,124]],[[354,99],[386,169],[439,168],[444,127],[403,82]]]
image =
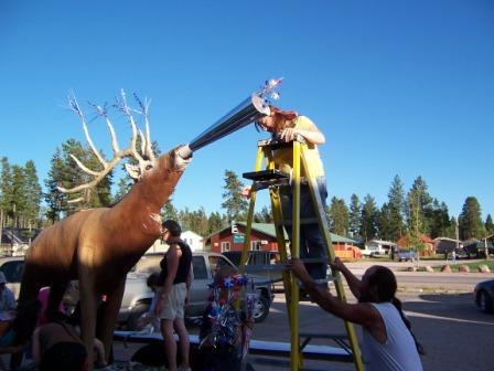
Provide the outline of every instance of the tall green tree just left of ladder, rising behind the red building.
[[223,189],[222,208],[226,210],[228,222],[245,219],[248,201],[241,195],[244,183],[232,170],[225,170],[225,186]]

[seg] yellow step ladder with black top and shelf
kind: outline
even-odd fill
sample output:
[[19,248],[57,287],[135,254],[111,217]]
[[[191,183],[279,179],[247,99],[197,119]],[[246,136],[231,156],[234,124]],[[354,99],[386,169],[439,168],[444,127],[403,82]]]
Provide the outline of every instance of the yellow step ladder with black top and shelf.
[[[276,169],[276,163],[273,161],[273,151],[282,147],[293,146],[293,169],[292,174],[283,173]],[[283,234],[283,218],[281,212],[281,203],[279,197],[279,187],[291,184],[293,190],[293,204],[292,204],[292,236],[291,236],[291,256],[300,257],[300,169],[303,166],[305,170],[307,179],[311,191],[312,201],[315,205],[316,219],[319,223],[320,231],[325,241],[326,253],[330,262],[334,261],[335,254],[333,245],[331,242],[331,234],[327,229],[327,223],[325,221],[325,211],[323,210],[323,204],[320,193],[316,191],[318,187],[315,183],[315,178],[311,177],[310,169],[305,159],[307,144],[301,136],[298,136],[296,140],[291,142],[279,142],[275,139],[260,140],[257,146],[257,158],[254,172],[244,173],[244,178],[253,180],[253,192],[250,195],[250,203],[247,215],[246,225],[246,239],[244,242],[244,248],[240,258],[240,272],[245,269],[247,262],[247,251],[250,245],[250,233],[254,220],[254,208],[256,203],[256,192],[260,189],[269,189],[269,194],[271,199],[272,216],[275,220],[276,235],[278,242],[278,250],[280,253],[281,262],[287,262],[288,250],[284,241]],[[261,170],[262,162],[266,163],[265,169]],[[290,179],[291,178],[291,179]],[[333,272],[334,285],[336,287],[337,297],[341,300],[346,300],[345,293],[343,289],[343,284],[339,272]],[[299,286],[297,284],[297,278],[293,274],[283,272],[283,285],[284,295],[287,303],[287,312],[290,321],[290,333],[291,333],[291,353],[290,353],[290,370],[298,371],[302,368],[302,348],[300,346],[299,333]],[[355,363],[355,369],[358,371],[364,370],[362,363],[361,350],[358,347],[358,340],[355,333],[355,328],[353,324],[345,321],[345,328],[347,333],[347,339],[350,341],[350,349],[352,350],[353,361]],[[305,335],[307,336],[307,335]],[[310,335],[309,335],[310,336]],[[318,336],[313,336],[318,337]],[[304,344],[303,344],[304,346]]]

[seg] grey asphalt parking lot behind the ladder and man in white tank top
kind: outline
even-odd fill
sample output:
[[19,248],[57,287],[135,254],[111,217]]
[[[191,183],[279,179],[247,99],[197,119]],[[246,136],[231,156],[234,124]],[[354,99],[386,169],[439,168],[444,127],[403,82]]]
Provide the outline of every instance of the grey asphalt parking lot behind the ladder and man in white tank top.
[[[355,267],[363,272],[365,267]],[[494,316],[483,314],[473,304],[472,290],[480,280],[494,275],[453,275],[397,273],[398,297],[412,322],[414,331],[426,348],[425,370],[492,370]],[[444,286],[444,283],[448,285]],[[347,293],[348,299],[352,298]],[[300,304],[300,331],[344,333],[343,321],[322,311],[315,304]],[[197,329],[191,327],[191,332]],[[357,335],[359,336],[357,328]],[[290,332],[283,294],[277,294],[269,317],[255,327],[254,338],[289,342]],[[318,340],[314,344],[331,344]],[[121,346],[121,344],[120,344]],[[125,354],[125,353],[121,353]],[[130,357],[130,356],[124,356]],[[251,357],[256,371],[287,370],[288,359]],[[354,370],[353,363],[307,360],[304,370]]]

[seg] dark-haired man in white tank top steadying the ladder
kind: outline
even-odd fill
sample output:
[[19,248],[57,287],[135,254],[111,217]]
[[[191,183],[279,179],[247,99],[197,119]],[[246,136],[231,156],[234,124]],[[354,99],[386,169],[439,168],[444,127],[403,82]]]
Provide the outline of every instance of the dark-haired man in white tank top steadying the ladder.
[[291,259],[287,267],[300,278],[312,299],[324,310],[344,320],[362,325],[362,356],[366,370],[422,371],[421,346],[410,330],[410,322],[395,297],[394,273],[384,266],[372,266],[362,280],[336,257],[331,264],[348,283],[357,304],[348,304],[319,288],[302,261]]

